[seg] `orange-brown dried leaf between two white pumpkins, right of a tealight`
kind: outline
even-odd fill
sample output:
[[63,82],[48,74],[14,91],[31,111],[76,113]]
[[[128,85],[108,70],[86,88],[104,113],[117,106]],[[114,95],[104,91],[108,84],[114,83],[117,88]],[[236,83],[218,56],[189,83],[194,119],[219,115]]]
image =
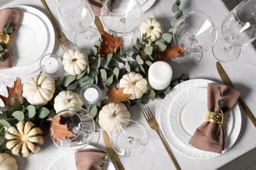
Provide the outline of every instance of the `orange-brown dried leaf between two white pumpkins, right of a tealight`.
[[123,93],[123,89],[124,88],[119,88],[116,90],[116,88],[112,87],[111,90],[108,90],[108,92],[106,92],[108,103],[121,103],[122,101],[127,101],[129,99],[129,94]]

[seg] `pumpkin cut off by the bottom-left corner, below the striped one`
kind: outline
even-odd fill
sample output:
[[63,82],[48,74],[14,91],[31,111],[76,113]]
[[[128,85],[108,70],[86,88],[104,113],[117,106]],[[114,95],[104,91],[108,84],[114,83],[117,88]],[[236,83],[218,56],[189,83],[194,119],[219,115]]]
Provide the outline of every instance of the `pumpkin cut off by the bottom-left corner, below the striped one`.
[[0,169],[1,170],[17,170],[18,165],[15,158],[7,153],[0,153]]

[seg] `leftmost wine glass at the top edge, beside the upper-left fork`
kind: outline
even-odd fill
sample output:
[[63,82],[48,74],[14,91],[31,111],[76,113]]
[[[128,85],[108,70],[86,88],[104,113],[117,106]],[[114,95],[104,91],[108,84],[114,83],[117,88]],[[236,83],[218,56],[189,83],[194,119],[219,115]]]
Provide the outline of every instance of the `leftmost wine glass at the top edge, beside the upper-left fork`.
[[56,0],[58,17],[62,26],[75,33],[75,45],[89,52],[100,33],[92,27],[95,13],[87,0]]

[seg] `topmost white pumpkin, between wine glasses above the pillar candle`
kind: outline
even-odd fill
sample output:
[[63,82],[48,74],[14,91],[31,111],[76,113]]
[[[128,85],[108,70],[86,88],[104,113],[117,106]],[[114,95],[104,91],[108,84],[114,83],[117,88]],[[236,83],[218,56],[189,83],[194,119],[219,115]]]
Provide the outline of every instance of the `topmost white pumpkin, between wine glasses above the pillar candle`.
[[151,36],[149,41],[156,41],[163,34],[163,24],[155,18],[148,18],[140,25],[140,32],[141,34],[143,33],[145,37]]

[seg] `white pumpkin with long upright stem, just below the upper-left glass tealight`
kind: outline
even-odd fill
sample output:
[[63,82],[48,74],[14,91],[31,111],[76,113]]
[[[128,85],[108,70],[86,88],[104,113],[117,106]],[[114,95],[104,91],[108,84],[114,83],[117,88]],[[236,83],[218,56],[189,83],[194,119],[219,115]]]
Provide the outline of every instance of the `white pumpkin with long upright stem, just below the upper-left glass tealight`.
[[32,105],[43,106],[51,101],[55,92],[55,82],[49,75],[42,75],[29,78],[23,84],[22,96]]

